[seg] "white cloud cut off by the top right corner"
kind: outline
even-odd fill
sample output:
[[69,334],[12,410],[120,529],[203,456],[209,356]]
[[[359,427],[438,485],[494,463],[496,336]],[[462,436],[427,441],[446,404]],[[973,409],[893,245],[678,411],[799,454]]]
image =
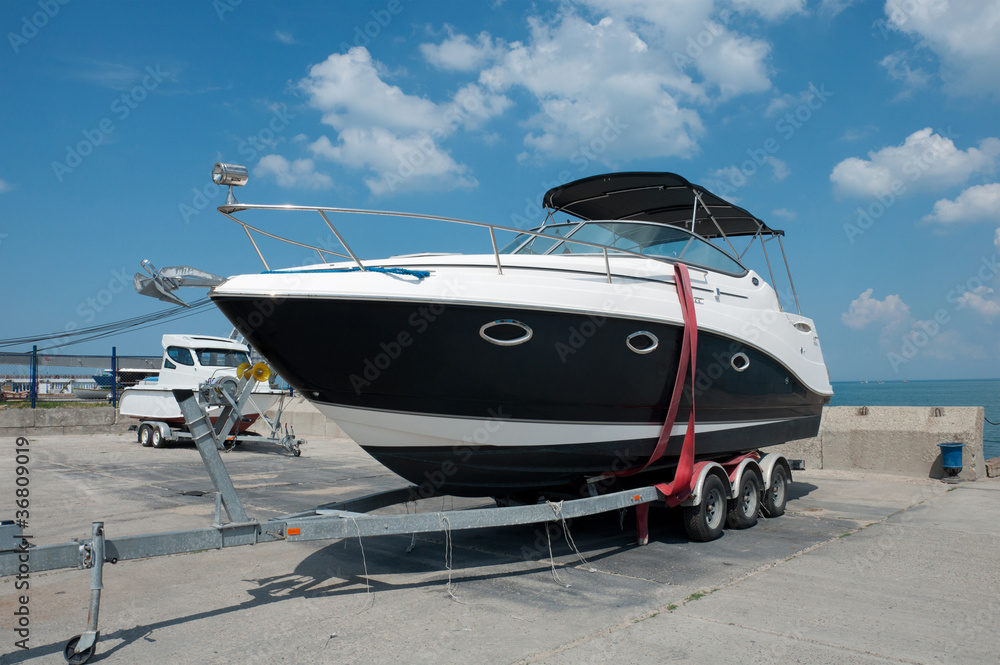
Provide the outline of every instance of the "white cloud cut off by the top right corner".
[[887,0],[889,25],[913,37],[941,60],[955,93],[1000,93],[1000,3],[996,0]]

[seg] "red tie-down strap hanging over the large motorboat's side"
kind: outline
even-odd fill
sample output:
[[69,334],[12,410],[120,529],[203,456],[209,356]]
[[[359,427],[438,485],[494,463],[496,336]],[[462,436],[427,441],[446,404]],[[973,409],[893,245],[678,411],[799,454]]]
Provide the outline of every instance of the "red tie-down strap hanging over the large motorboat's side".
[[[677,376],[674,378],[674,389],[670,394],[670,406],[667,409],[667,419],[660,430],[660,438],[656,442],[656,448],[650,455],[646,463],[636,469],[609,473],[612,476],[630,476],[640,471],[644,471],[652,463],[663,457],[666,452],[667,443],[670,441],[670,433],[674,428],[674,421],[677,419],[677,409],[680,406],[681,393],[684,391],[685,378],[688,373],[688,366],[691,367],[691,413],[688,416],[687,432],[684,434],[684,445],[681,447],[681,455],[677,461],[677,469],[674,471],[674,479],[669,483],[658,483],[656,489],[663,495],[664,501],[670,507],[678,506],[686,499],[692,491],[691,481],[694,479],[694,377],[696,372],[695,359],[698,355],[698,318],[694,310],[694,295],[691,291],[691,277],[688,274],[687,266],[682,263],[674,264],[674,285],[677,288],[677,300],[681,306],[681,316],[684,317],[684,330],[682,331],[681,355],[677,361]],[[643,503],[636,506],[636,522],[639,530],[639,542],[645,543],[649,538],[649,504]]]

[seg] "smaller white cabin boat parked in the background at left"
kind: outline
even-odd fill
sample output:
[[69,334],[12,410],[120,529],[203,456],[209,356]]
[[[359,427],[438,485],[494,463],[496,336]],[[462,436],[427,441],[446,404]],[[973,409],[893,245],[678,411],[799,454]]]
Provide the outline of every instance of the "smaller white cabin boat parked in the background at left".
[[[139,420],[165,422],[181,426],[184,417],[174,399],[173,390],[198,386],[212,379],[236,377],[236,368],[250,362],[249,348],[225,337],[205,335],[164,335],[163,363],[158,376],[139,381],[122,392],[118,410],[122,416]],[[268,383],[258,383],[236,425],[238,434],[257,421],[269,409],[282,391]],[[209,409],[214,422],[222,407]]]

